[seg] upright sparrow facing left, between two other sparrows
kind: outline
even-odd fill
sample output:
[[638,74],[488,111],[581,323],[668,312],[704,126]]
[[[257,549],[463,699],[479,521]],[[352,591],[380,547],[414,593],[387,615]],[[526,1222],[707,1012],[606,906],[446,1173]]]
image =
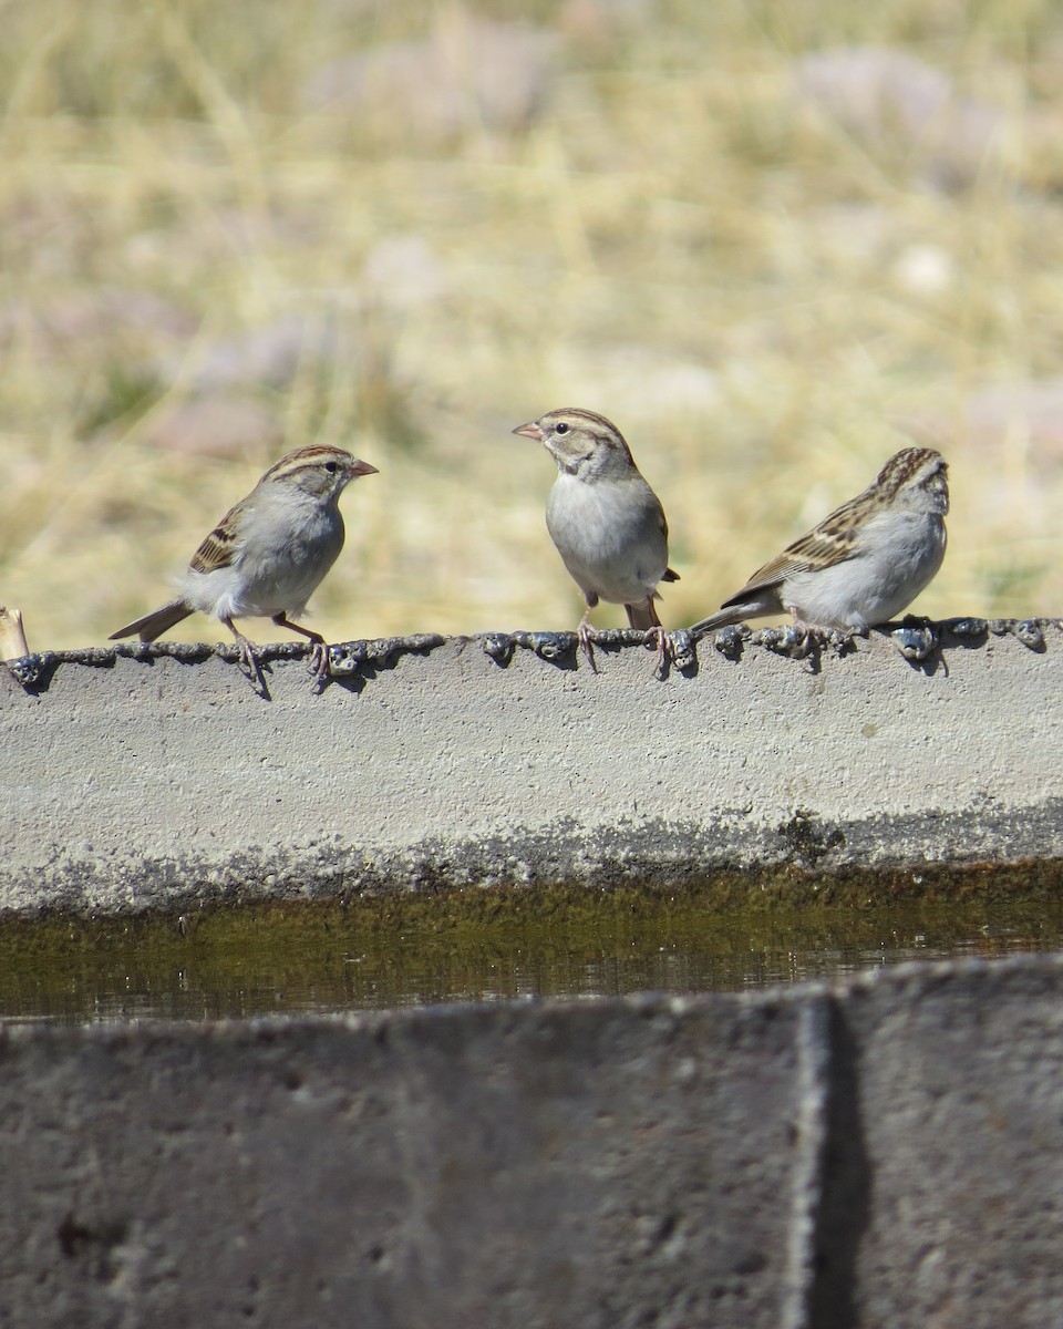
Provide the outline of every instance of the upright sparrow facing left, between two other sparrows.
[[654,599],[656,583],[679,581],[668,567],[668,524],[619,429],[605,416],[569,407],[522,424],[557,462],[546,501],[546,528],[587,602],[579,642],[594,666],[590,611],[599,599],[623,605],[627,622],[664,654],[664,630]]

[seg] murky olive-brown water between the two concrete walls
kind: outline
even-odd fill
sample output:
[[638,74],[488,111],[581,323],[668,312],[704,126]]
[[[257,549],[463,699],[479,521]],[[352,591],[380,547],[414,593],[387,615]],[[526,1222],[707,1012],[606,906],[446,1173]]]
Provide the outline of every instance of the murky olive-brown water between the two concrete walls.
[[1056,897],[712,908],[625,890],[244,905],[0,924],[0,1022],[203,1021],[736,991],[908,960],[1063,949]]

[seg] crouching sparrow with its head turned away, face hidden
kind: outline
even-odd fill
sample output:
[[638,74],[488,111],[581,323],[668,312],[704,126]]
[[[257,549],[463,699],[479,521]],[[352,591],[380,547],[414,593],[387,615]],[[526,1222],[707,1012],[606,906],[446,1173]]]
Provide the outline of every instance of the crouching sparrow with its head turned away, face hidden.
[[930,448],[904,448],[862,494],[753,573],[696,635],[789,610],[799,627],[862,631],[906,609],[945,557],[947,465]]

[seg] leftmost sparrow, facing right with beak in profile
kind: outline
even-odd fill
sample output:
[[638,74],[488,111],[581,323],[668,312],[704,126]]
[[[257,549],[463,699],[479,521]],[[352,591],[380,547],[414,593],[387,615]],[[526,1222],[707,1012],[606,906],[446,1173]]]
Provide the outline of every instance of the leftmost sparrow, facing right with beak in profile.
[[110,641],[136,633],[153,642],[198,610],[225,623],[248,672],[258,675],[254,643],[233,619],[271,618],[278,627],[310,638],[307,667],[320,682],[328,671],[324,638],[291,617],[303,615],[343,549],[340,494],[351,480],[372,474],[376,466],[368,461],[324,444],[287,453],[195,550],[177,599],[120,627]]

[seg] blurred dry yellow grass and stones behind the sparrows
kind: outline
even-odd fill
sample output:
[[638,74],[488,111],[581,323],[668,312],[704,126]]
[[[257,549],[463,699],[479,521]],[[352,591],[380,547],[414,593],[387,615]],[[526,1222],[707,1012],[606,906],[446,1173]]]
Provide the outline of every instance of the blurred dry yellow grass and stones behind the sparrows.
[[553,464],[509,432],[559,405],[613,417],[664,502],[668,626],[912,437],[954,505],[916,607],[1063,610],[1055,0],[0,23],[0,603],[31,647],[161,603],[311,441],[380,468],[343,500],[330,638],[574,626]]

